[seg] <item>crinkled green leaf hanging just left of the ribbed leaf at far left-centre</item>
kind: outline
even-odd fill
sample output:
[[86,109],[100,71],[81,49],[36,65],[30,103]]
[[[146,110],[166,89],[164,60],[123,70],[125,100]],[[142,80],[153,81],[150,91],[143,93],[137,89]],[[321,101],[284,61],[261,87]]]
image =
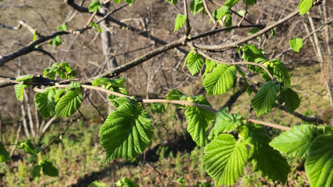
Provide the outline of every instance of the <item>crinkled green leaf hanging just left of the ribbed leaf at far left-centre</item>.
[[38,113],[45,118],[53,116],[55,112],[55,101],[53,100],[54,94],[55,92],[52,89],[46,89],[43,93],[35,94],[35,106]]

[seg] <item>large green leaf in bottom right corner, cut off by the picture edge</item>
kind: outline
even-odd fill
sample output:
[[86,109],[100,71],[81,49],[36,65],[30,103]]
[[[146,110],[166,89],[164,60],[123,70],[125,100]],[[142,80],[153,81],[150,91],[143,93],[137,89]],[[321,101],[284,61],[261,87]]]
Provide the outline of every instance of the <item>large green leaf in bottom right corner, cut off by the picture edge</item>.
[[310,144],[305,161],[305,173],[310,186],[333,185],[333,137],[318,136]]

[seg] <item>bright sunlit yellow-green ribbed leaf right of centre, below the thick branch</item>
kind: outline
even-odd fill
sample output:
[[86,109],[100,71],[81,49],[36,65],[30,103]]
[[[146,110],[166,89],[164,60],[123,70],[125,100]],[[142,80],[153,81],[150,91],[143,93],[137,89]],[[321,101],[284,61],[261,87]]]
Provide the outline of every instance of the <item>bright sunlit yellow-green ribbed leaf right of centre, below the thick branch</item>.
[[207,90],[207,96],[221,95],[228,91],[234,84],[236,67],[218,64],[212,73],[205,76],[203,86]]

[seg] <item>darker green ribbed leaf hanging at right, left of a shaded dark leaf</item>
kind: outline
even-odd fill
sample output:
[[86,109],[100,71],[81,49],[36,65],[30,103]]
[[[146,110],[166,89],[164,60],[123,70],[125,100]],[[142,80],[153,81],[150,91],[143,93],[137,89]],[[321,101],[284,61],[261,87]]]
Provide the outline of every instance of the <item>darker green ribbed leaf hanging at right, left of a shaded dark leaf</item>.
[[251,99],[252,108],[255,110],[257,117],[268,113],[275,106],[278,99],[277,93],[280,91],[280,84],[273,81],[266,82],[258,93]]

